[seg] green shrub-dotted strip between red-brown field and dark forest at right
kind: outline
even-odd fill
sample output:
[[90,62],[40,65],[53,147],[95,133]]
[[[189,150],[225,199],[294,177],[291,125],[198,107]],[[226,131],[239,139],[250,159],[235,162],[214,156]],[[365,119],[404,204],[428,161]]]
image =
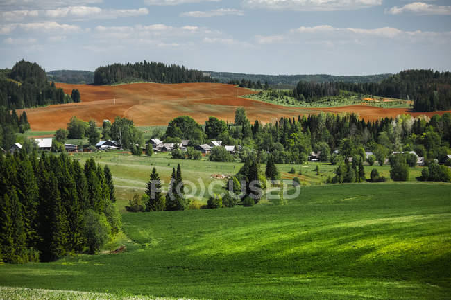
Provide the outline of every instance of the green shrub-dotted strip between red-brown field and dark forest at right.
[[[291,106],[291,107],[303,107],[303,108],[312,108],[312,107],[340,107],[340,106],[348,106],[348,105],[371,105],[376,107],[383,108],[411,108],[411,105],[402,99],[388,99],[384,97],[378,96],[361,96],[359,94],[350,93],[350,92],[342,92],[339,96],[327,96],[322,98],[321,100],[317,100],[314,102],[300,102],[291,96],[275,96],[277,93],[273,93],[273,91],[269,90],[259,90],[252,89],[253,91],[258,91],[258,94],[246,95],[242,96],[244,98],[264,101],[268,103],[273,103],[276,105],[283,106]],[[276,90],[276,91],[284,91],[284,90]],[[364,100],[364,98],[371,98],[372,100]]]

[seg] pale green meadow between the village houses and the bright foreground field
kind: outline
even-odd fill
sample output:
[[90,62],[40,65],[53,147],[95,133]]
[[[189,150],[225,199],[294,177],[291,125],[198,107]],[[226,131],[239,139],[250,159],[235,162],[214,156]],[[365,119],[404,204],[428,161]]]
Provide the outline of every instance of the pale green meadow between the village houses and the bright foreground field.
[[[108,164],[112,170],[114,176],[114,184],[117,190],[117,197],[119,199],[119,209],[124,209],[128,204],[128,200],[133,197],[133,194],[144,194],[146,183],[148,182],[151,169],[155,167],[160,174],[164,185],[167,186],[171,179],[172,168],[177,167],[180,164],[182,168],[182,175],[185,180],[193,182],[196,186],[197,192],[194,193],[194,199],[206,203],[208,198],[207,187],[212,182],[217,182],[214,185],[214,193],[222,193],[226,184],[226,179],[216,179],[212,175],[235,175],[243,165],[239,162],[212,162],[207,161],[206,157],[203,157],[202,161],[192,161],[187,159],[171,159],[169,153],[158,153],[152,157],[136,157],[128,154],[128,152],[111,151],[111,152],[98,152],[98,153],[74,153],[74,158],[79,159],[83,164],[86,159],[94,157],[94,159],[101,165]],[[319,175],[316,175],[316,166],[320,166]],[[303,186],[321,185],[325,184],[328,177],[334,176],[334,170],[337,166],[332,166],[329,163],[321,162],[309,162],[303,165],[292,164],[276,164],[282,179],[293,179],[293,177],[299,177]],[[296,174],[289,174],[291,168],[295,168]],[[262,170],[264,171],[265,165],[262,164]],[[366,177],[369,178],[371,170],[376,168],[380,175],[386,178],[390,177],[390,166],[365,166]],[[302,171],[302,175],[299,175],[299,171]],[[409,168],[409,181],[416,182],[416,177],[421,175],[421,167]],[[201,190],[201,183],[198,179],[201,178],[204,191]]]

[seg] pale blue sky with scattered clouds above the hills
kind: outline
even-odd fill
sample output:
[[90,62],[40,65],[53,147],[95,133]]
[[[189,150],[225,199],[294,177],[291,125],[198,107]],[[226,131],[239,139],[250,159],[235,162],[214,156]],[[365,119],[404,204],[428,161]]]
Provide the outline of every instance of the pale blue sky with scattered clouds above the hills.
[[0,68],[368,75],[451,69],[451,1],[0,0]]

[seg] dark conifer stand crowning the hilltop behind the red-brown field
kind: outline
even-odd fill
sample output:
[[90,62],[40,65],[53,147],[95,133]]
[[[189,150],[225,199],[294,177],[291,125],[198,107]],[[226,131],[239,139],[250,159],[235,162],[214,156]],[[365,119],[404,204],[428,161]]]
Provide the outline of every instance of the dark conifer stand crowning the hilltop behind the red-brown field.
[[162,62],[135,62],[135,64],[110,64],[99,67],[94,72],[94,85],[113,85],[129,82],[157,82],[157,83],[183,83],[183,82],[215,82],[214,78],[207,76],[203,71],[187,69],[176,64],[163,64]]

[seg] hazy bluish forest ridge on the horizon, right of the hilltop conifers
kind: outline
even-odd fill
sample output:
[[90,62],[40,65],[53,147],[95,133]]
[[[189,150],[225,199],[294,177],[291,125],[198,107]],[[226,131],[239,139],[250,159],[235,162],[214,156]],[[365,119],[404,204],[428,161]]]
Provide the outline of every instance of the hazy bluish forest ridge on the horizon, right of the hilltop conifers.
[[385,78],[391,76],[391,74],[378,74],[378,75],[366,75],[366,76],[333,76],[326,74],[317,75],[262,75],[262,74],[244,74],[244,73],[227,73],[227,72],[211,72],[212,78],[219,80],[219,82],[241,82],[242,79],[250,80],[252,82],[268,82],[273,88],[289,88],[296,87],[299,81],[305,82],[381,82]]

